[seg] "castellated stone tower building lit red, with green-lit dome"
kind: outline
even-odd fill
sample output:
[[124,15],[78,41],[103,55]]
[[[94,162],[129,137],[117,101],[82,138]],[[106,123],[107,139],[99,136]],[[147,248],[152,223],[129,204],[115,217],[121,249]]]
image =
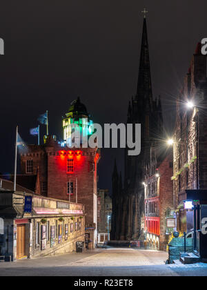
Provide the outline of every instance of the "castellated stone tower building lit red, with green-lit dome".
[[[79,98],[72,102],[63,119],[64,135],[70,138],[68,124],[83,128],[87,119],[86,107]],[[84,123],[86,129],[91,122]],[[46,136],[43,145],[28,145],[21,153],[21,174],[36,175],[35,193],[46,197],[80,202],[86,210],[86,235],[89,247],[97,244],[97,164],[100,151],[96,148],[68,148],[66,141],[57,142],[55,136]],[[70,140],[71,141],[71,140]]]

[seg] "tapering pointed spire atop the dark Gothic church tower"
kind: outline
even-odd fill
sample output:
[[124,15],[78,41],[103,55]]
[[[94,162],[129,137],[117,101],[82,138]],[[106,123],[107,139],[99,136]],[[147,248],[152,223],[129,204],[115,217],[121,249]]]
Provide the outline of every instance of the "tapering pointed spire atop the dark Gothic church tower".
[[[148,33],[146,25],[146,9],[144,10],[144,23],[141,39],[141,54],[139,61],[139,77],[137,83],[137,98],[143,101],[148,99],[152,106],[152,84],[150,75],[150,57],[148,48]],[[152,108],[152,107],[151,107]]]

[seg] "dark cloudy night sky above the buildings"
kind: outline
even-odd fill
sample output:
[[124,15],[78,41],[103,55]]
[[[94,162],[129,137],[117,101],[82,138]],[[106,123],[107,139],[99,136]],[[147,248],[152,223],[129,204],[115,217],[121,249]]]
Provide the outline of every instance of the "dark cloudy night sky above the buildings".
[[[34,144],[29,129],[48,110],[49,131],[60,139],[61,116],[77,96],[95,122],[126,122],[137,87],[145,7],[153,95],[161,95],[170,132],[175,97],[197,42],[207,37],[206,0],[1,1],[1,173],[13,172],[17,124],[23,140]],[[102,151],[99,188],[110,188],[115,157],[121,169],[121,150]]]

